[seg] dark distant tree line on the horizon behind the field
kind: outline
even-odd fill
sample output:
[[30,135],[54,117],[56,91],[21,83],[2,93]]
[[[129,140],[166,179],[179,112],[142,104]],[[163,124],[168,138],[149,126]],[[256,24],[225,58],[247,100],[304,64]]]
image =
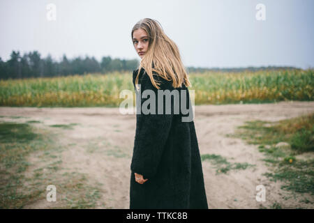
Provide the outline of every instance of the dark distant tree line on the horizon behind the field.
[[[137,59],[112,59],[110,56],[103,56],[98,62],[94,56],[68,59],[65,54],[61,61],[54,61],[48,54],[41,58],[38,51],[24,53],[22,56],[19,51],[10,54],[8,61],[2,61],[0,57],[0,79],[17,79],[29,77],[58,77],[67,75],[84,75],[85,73],[106,73],[113,71],[133,71],[137,68],[140,61]],[[195,68],[186,67],[187,72],[243,72],[257,70],[278,70],[278,69],[299,69],[294,67],[248,67],[248,68]]]

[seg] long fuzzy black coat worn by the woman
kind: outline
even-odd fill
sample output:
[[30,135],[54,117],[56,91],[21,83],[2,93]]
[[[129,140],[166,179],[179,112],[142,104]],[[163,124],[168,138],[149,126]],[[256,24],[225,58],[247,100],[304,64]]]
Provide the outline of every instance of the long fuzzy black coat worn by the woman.
[[[134,87],[137,71],[133,71]],[[154,78],[162,82],[160,90],[174,89],[172,82],[158,75]],[[157,101],[158,89],[143,68],[138,84],[141,84],[140,93],[146,89],[153,90]],[[186,90],[187,105],[190,105],[186,86],[183,84],[177,90]],[[148,98],[136,100],[137,106]],[[130,208],[208,208],[194,122],[182,122],[182,116],[188,114],[181,114],[181,111],[174,114],[173,102],[172,97],[172,114],[165,114],[165,100],[163,114],[157,114],[157,109],[156,114],[136,114],[130,165]],[[148,180],[143,184],[137,183],[134,173],[142,174]]]

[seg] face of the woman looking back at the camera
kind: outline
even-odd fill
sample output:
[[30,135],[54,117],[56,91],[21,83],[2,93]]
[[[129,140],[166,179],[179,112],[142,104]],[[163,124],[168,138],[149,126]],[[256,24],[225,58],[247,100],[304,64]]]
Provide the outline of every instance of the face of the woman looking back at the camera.
[[149,37],[144,29],[136,29],[133,32],[133,45],[137,54],[142,59],[149,47]]

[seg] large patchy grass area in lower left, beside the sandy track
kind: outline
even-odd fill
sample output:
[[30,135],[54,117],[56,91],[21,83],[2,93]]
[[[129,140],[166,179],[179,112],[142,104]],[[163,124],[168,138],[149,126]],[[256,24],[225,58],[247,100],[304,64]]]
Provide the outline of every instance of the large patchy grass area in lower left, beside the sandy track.
[[[59,134],[28,123],[0,123],[0,133],[0,208],[36,202],[49,208],[96,206],[101,194],[97,183],[84,174],[61,174]],[[56,185],[57,202],[46,200],[47,185]]]

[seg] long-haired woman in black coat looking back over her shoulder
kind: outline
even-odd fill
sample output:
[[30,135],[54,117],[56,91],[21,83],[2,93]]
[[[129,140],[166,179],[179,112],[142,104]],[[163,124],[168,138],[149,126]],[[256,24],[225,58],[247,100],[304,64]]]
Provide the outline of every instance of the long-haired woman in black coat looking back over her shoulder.
[[[130,165],[130,208],[208,208],[194,122],[183,121],[190,114],[181,109],[174,112],[174,105],[181,108],[185,104],[190,111],[192,107],[187,89],[190,82],[179,49],[160,24],[148,18],[135,24],[131,38],[142,60],[133,71],[137,122]],[[156,97],[144,97],[146,90]],[[160,109],[158,90],[176,90],[179,98],[163,98]],[[166,108],[171,112],[166,113]]]

